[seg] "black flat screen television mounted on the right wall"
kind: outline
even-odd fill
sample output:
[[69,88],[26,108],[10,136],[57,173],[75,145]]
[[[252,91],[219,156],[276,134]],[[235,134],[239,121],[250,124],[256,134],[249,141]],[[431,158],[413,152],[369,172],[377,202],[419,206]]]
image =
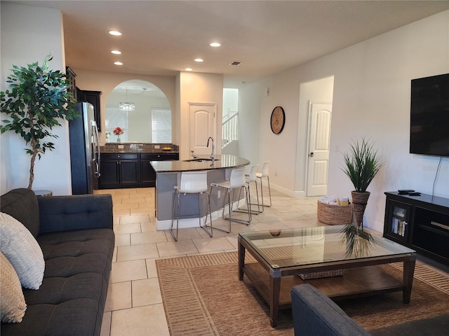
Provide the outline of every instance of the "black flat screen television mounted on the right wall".
[[449,73],[412,80],[410,153],[449,157]]

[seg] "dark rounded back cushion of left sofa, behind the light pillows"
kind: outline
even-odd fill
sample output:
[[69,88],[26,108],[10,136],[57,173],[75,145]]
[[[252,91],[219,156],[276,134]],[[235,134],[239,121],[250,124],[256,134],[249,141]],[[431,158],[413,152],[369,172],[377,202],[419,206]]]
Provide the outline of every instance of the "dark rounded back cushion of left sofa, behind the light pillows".
[[33,190],[20,188],[1,195],[1,212],[13,216],[34,237],[39,235],[39,204]]

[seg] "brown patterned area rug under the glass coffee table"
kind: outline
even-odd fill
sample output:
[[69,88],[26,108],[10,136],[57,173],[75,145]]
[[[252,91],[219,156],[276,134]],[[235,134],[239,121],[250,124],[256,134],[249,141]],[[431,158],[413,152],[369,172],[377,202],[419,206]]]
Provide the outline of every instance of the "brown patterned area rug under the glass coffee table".
[[[250,281],[238,278],[238,254],[216,253],[156,260],[172,336],[293,335],[290,309],[269,324],[269,307]],[[255,261],[250,255],[247,262]],[[401,264],[382,265],[402,278]],[[402,292],[337,302],[367,330],[449,312],[449,277],[417,262],[410,304]]]

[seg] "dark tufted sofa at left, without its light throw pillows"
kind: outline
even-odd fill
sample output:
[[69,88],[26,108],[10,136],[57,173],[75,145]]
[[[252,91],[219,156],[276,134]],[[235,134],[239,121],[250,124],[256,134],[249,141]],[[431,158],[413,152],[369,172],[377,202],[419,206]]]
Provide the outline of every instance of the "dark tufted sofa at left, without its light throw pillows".
[[32,232],[45,260],[39,290],[23,289],[22,322],[1,323],[1,336],[100,335],[114,253],[111,195],[36,197],[15,189],[0,204]]

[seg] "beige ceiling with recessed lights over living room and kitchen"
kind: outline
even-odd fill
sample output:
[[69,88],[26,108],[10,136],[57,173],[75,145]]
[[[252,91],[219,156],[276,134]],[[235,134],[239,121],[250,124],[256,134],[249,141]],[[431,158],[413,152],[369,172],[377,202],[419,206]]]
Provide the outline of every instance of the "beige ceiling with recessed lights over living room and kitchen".
[[[449,9],[449,1],[15,1],[63,13],[73,69],[175,76],[190,67],[225,85],[293,68]],[[109,30],[122,36],[111,36]],[[222,44],[212,48],[209,43]],[[112,55],[111,50],[121,50]],[[204,62],[194,59],[201,57]],[[115,61],[123,62],[116,66]],[[229,65],[241,62],[239,66]]]

